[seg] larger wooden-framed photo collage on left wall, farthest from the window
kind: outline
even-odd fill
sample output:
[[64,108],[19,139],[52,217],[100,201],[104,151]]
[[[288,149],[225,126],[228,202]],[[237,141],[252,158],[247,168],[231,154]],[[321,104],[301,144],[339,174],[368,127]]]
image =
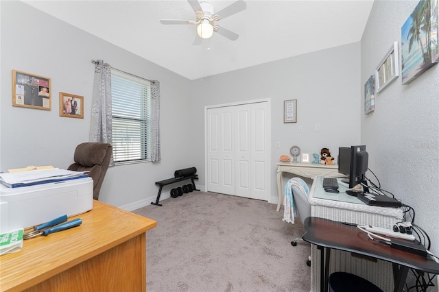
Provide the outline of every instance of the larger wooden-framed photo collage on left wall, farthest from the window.
[[50,78],[12,70],[12,106],[50,110]]

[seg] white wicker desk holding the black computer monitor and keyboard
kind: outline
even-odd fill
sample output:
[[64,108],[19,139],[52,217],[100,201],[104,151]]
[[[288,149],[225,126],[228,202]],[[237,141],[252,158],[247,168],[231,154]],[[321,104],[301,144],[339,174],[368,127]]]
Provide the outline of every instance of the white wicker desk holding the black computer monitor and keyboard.
[[[315,178],[309,191],[311,216],[326,218],[333,221],[370,224],[383,228],[392,228],[394,223],[401,221],[403,212],[400,208],[384,208],[368,206],[357,197],[344,193],[347,184],[339,181],[340,193],[326,193],[322,188],[322,178]],[[311,246],[311,291],[320,291],[320,251],[316,245]],[[393,291],[392,264],[384,260],[371,261],[367,258],[353,256],[349,252],[333,250],[329,274],[334,271],[346,271],[369,280],[383,291]]]

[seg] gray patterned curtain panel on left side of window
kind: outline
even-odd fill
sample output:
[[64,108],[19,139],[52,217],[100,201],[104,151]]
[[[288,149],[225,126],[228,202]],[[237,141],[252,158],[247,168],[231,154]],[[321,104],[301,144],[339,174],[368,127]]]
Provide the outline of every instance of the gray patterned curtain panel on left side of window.
[[[90,142],[110,143],[112,145],[111,123],[111,66],[103,60],[94,61],[95,79],[91,102]],[[115,162],[110,160],[110,166]]]

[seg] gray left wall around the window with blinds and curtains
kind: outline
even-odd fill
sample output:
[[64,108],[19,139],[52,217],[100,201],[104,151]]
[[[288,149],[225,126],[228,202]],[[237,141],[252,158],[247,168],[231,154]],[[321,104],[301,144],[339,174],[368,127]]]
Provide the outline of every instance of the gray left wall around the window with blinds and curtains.
[[[161,81],[160,163],[108,169],[100,199],[125,208],[150,204],[154,182],[193,166],[190,156],[189,93],[180,75],[44,14],[20,1],[1,1],[0,169],[27,165],[67,168],[79,143],[88,141],[94,65],[102,59],[117,69]],[[12,106],[12,70],[51,77],[51,110]],[[84,96],[84,119],[59,117],[59,93]],[[198,167],[198,165],[195,165]]]

